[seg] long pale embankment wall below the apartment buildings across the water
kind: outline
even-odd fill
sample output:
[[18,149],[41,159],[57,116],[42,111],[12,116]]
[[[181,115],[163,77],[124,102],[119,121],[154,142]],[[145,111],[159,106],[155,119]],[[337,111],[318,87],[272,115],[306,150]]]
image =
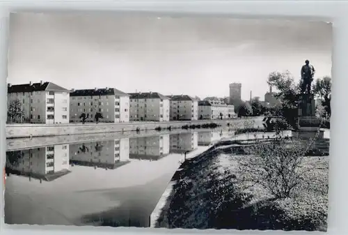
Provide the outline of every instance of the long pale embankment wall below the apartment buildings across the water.
[[[166,122],[132,122],[132,123],[86,123],[86,124],[9,124],[6,126],[6,139],[26,137],[52,137],[60,135],[87,135],[107,132],[147,131],[182,129],[187,126],[216,124],[221,127],[243,126],[244,119],[166,121]],[[262,118],[255,118],[255,125],[262,126]]]

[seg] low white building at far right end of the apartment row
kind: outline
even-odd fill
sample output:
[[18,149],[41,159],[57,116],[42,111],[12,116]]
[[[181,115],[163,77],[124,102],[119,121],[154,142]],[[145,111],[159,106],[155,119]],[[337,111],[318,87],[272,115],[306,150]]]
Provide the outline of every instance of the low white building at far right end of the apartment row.
[[199,119],[234,119],[234,105],[226,105],[219,100],[201,100],[198,101],[198,116]]

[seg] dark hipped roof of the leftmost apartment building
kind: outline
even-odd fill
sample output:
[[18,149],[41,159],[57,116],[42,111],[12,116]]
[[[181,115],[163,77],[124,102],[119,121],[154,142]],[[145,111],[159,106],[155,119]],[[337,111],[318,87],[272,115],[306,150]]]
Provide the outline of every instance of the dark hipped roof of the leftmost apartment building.
[[19,92],[33,92],[33,91],[63,91],[70,92],[53,82],[38,82],[33,84],[18,84],[10,85],[8,84],[7,93],[19,93]]

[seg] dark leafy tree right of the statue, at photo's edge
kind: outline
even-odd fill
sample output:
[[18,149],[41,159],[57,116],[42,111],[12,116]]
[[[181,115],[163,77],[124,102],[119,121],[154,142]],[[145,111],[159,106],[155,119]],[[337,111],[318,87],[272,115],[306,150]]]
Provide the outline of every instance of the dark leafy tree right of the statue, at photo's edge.
[[313,92],[322,99],[322,106],[325,109],[324,115],[331,116],[331,77],[317,79],[313,84]]

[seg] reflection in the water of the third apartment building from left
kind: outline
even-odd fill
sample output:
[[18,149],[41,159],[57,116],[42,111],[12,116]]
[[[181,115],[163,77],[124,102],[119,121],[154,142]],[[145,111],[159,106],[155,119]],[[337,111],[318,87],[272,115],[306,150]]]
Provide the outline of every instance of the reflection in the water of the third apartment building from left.
[[129,158],[158,160],[169,154],[169,135],[129,139]]

